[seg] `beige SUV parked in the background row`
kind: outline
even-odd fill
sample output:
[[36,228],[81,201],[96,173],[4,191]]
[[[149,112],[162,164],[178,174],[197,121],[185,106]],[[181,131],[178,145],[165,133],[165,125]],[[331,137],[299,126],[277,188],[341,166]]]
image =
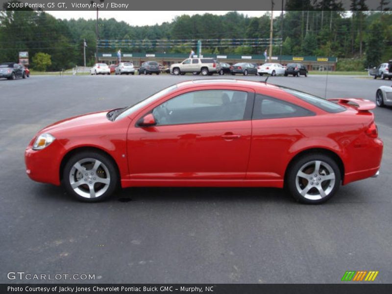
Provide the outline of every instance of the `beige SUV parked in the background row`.
[[219,73],[221,66],[214,58],[188,58],[181,63],[174,63],[170,66],[170,73],[174,75],[194,73],[202,75],[212,75]]

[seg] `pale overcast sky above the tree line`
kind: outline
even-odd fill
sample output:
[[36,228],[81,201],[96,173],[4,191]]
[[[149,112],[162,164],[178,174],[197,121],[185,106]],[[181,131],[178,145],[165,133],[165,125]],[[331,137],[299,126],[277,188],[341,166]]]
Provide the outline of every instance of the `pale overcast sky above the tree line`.
[[[96,19],[97,14],[95,10],[92,11],[46,11],[55,18],[60,19]],[[229,11],[99,11],[99,18],[114,18],[117,21],[124,21],[129,25],[155,25],[164,22],[171,22],[176,16],[183,14],[195,15],[211,13],[216,15],[223,15]],[[239,13],[248,15],[250,17],[260,17],[267,11],[238,11]],[[278,13],[276,11],[276,13]],[[148,15],[148,17],[146,17]],[[151,22],[151,20],[154,20]]]

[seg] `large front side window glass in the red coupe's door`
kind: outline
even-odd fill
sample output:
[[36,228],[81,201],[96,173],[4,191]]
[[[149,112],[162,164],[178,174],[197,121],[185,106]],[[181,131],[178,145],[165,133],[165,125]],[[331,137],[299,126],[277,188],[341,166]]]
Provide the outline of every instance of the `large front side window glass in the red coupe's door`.
[[194,91],[162,103],[152,114],[157,125],[239,121],[244,119],[246,101],[243,91]]

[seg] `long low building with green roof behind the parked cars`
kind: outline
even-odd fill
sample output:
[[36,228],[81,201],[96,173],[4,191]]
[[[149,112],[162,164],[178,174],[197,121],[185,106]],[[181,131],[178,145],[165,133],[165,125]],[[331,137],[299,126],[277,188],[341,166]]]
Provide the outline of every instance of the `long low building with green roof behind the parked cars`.
[[[197,55],[194,56],[195,58]],[[220,62],[235,64],[238,62],[247,63],[266,63],[264,55],[233,55],[233,54],[203,54],[204,58],[216,58]],[[143,62],[156,61],[163,66],[170,66],[173,63],[178,63],[184,59],[189,58],[189,54],[182,53],[121,53],[122,62],[132,62],[135,67],[139,67]],[[98,61],[106,64],[117,63],[117,52],[99,52]],[[272,62],[287,65],[292,62],[299,62],[304,64],[308,71],[335,71],[337,57],[326,56],[300,56],[300,55],[274,55],[271,58]],[[269,62],[269,60],[267,60]]]

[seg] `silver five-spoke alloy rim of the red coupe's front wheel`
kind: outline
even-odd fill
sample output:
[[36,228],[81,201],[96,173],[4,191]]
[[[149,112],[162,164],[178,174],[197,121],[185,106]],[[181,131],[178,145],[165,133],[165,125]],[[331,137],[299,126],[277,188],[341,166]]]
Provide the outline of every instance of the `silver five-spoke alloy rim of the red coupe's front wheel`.
[[84,198],[102,196],[110,185],[108,168],[94,158],[84,158],[76,162],[69,179],[73,191]]

